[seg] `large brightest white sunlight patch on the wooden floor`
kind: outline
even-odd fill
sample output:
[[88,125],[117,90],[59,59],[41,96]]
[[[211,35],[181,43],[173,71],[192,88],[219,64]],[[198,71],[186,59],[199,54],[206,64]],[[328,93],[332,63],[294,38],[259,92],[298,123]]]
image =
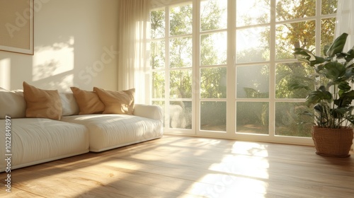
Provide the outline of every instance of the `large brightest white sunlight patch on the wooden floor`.
[[265,197],[270,166],[267,156],[265,146],[238,141],[230,154],[210,165],[209,170],[215,173],[200,178],[188,192],[203,197]]

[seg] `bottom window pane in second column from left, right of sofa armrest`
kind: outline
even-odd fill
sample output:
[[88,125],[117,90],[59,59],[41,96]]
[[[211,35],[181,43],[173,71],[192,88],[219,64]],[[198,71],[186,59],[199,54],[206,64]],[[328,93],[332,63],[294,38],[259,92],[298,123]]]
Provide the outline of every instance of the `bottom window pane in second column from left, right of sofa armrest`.
[[192,129],[192,102],[170,102],[170,127],[174,129]]

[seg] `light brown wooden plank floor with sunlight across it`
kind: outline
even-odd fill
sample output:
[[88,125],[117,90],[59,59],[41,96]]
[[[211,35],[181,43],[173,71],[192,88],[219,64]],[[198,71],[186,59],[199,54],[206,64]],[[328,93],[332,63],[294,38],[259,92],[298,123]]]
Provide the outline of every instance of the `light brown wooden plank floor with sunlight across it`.
[[354,155],[165,135],[0,173],[0,197],[354,197]]

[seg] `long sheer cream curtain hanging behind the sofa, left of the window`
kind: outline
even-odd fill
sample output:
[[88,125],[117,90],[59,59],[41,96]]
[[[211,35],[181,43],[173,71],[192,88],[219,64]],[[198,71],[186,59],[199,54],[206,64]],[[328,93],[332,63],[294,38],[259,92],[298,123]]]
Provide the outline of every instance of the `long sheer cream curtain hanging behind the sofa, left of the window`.
[[118,90],[135,88],[135,103],[150,103],[151,0],[119,1]]

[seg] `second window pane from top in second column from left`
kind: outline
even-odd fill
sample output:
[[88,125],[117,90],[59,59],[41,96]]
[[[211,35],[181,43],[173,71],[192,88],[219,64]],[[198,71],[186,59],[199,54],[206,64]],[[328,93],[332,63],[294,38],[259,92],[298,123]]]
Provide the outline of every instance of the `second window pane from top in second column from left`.
[[170,68],[192,67],[192,37],[170,40]]

